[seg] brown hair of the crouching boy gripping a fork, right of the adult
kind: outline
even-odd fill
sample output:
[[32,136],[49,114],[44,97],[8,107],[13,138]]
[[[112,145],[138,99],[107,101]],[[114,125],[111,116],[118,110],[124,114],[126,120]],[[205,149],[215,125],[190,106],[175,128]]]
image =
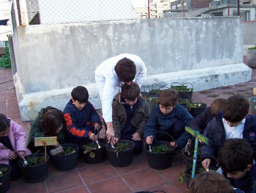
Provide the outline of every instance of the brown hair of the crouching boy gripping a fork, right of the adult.
[[158,103],[162,106],[176,106],[178,95],[175,89],[164,89],[158,96]]

